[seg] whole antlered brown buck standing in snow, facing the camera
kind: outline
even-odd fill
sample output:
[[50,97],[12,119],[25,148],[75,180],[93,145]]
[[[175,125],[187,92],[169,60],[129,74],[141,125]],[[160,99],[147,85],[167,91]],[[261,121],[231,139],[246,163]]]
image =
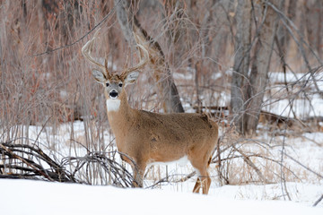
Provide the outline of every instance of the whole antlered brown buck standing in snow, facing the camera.
[[109,73],[108,63],[100,64],[92,56],[92,47],[99,30],[82,48],[83,56],[100,70],[92,75],[104,87],[109,125],[116,137],[121,159],[133,169],[134,186],[143,187],[144,170],[153,163],[188,159],[196,169],[193,192],[207,194],[211,178],[207,172],[218,138],[218,126],[208,116],[193,113],[158,114],[137,110],[127,102],[128,84],[134,83],[140,70],[149,60],[148,51],[141,45],[144,57],[134,67],[122,73]]

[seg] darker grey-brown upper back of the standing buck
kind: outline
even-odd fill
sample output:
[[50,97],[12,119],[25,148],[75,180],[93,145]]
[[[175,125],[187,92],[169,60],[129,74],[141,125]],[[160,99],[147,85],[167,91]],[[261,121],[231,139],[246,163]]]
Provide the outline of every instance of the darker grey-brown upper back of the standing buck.
[[139,115],[135,126],[146,141],[188,144],[217,137],[218,126],[204,114],[157,114],[141,110]]

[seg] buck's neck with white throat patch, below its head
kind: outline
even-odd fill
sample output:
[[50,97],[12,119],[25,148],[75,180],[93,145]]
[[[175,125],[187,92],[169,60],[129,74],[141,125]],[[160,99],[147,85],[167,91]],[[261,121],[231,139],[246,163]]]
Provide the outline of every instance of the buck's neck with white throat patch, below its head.
[[[106,99],[109,125],[115,136],[120,136],[118,133],[127,131],[127,127],[135,121],[135,109],[129,106],[125,91],[120,94],[118,99],[109,99],[108,95],[106,95]],[[121,136],[123,135],[121,134]]]

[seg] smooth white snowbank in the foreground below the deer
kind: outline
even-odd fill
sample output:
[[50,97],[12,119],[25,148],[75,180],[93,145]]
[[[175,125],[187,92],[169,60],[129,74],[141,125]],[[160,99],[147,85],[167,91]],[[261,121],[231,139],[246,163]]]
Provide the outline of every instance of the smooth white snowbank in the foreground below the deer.
[[323,214],[296,202],[3,179],[1,214]]

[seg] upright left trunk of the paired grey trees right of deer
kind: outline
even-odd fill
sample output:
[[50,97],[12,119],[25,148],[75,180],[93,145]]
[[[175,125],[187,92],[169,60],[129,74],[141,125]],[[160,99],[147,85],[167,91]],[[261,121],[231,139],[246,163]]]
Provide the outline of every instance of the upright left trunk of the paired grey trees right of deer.
[[237,130],[242,132],[244,95],[243,88],[249,72],[251,39],[251,2],[239,0],[236,13],[237,33],[235,37],[233,73],[231,80],[231,113]]

